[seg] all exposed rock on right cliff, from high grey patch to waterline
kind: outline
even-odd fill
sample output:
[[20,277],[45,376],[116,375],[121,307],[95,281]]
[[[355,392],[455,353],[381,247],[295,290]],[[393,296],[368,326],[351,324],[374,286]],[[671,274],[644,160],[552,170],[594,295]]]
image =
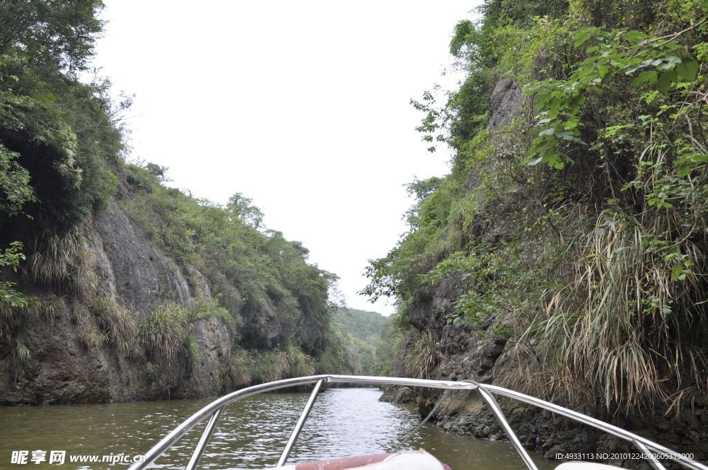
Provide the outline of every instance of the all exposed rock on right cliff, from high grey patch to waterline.
[[[506,144],[502,131],[508,123],[525,109],[524,98],[514,81],[498,81],[491,97],[491,119],[488,130],[491,141],[503,151]],[[469,176],[467,188],[480,185],[481,175]],[[489,224],[484,214],[493,207],[481,207],[479,217],[469,228],[472,239],[493,246],[499,236],[504,235],[504,224]],[[480,218],[481,217],[481,218]],[[498,221],[497,221],[498,222]],[[543,382],[539,372],[539,361],[534,343],[522,343],[513,334],[515,317],[509,313],[495,312],[487,316],[481,326],[472,328],[468,323],[450,323],[455,318],[457,307],[454,302],[464,293],[459,275],[448,275],[436,285],[421,286],[406,310],[407,320],[420,332],[429,333],[439,355],[438,363],[430,372],[430,379],[463,380],[472,379],[483,384],[495,384],[518,389],[528,394],[544,395],[547,387],[538,386]],[[411,345],[411,335],[401,343],[392,373],[407,376],[406,351]],[[409,401],[412,391],[389,389],[382,399],[387,401]],[[439,391],[418,389],[421,416],[428,415],[440,399]],[[708,403],[693,401],[683,403],[678,410],[668,412],[667,406],[646,408],[641,413],[607,415],[605,410],[593,404],[569,403],[562,394],[554,399],[565,406],[574,406],[577,411],[615,423],[624,429],[666,445],[679,452],[690,452],[695,459],[708,460]],[[556,454],[589,452],[634,452],[627,442],[599,432],[584,425],[578,425],[551,413],[539,412],[536,408],[522,403],[500,400],[500,404],[512,428],[527,449],[542,452],[548,458]],[[491,440],[506,440],[506,435],[496,418],[479,398],[476,392],[457,391],[444,402],[434,418],[442,429],[460,435]],[[615,460],[605,462],[626,468],[649,468],[639,460]]]

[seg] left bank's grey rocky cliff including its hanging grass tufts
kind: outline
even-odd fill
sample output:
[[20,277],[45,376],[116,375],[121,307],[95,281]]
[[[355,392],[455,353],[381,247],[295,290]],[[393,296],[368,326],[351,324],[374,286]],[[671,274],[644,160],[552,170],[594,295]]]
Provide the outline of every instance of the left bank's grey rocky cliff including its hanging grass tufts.
[[[205,275],[168,258],[122,208],[135,199],[137,183],[118,173],[118,194],[82,234],[84,282],[93,285],[37,282],[29,268],[4,273],[36,305],[9,333],[0,331],[0,405],[216,396],[251,380],[232,370],[235,340],[270,348],[297,335],[307,338],[309,352],[323,348],[324,330],[307,312],[291,306],[292,331],[283,331],[276,302],[246,305],[233,286],[215,301]],[[159,335],[168,333],[151,319],[168,307],[190,315],[185,335],[160,355],[144,343],[166,342]]]

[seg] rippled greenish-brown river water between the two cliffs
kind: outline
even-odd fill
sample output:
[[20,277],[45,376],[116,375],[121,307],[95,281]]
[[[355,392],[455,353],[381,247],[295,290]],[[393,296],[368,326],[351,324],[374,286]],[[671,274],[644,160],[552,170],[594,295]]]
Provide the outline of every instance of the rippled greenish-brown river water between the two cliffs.
[[[309,394],[261,394],[228,406],[200,462],[201,469],[275,466]],[[331,389],[320,394],[287,463],[391,452],[418,425],[412,406],[378,401],[377,389]],[[104,405],[0,407],[0,469],[127,469],[104,455],[144,454],[205,400]],[[178,470],[188,462],[204,424],[198,425],[151,468]],[[508,442],[447,434],[427,423],[411,440],[452,470],[523,469]],[[13,451],[28,451],[27,464],[13,464]],[[31,461],[33,451],[45,461]],[[64,464],[50,464],[51,451],[66,451]],[[98,463],[70,462],[98,456]],[[38,454],[39,457],[42,454]],[[533,454],[539,470],[554,467]],[[90,458],[90,457],[84,457]]]

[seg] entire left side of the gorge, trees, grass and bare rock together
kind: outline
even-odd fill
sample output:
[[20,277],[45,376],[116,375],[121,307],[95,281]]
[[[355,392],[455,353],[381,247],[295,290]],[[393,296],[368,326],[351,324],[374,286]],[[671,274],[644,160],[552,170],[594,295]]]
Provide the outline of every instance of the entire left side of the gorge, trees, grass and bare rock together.
[[360,345],[333,323],[337,277],[302,243],[236,190],[217,204],[166,186],[165,167],[126,161],[132,98],[80,79],[103,8],[0,1],[0,401],[361,373]]

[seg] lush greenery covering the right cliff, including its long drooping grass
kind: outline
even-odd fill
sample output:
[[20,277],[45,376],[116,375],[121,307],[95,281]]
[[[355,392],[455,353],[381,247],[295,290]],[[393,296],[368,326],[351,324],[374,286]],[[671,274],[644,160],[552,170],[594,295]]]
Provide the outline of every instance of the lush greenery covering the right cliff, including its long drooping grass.
[[[365,294],[396,297],[405,323],[422,285],[455,276],[447,321],[535,340],[535,377],[563,384],[549,393],[612,412],[707,395],[708,3],[480,13],[450,44],[459,90],[413,102],[423,139],[454,150],[451,173],[409,185],[410,229],[372,260]],[[518,112],[489,127],[500,79],[522,91]],[[408,362],[430,364],[416,350]]]

